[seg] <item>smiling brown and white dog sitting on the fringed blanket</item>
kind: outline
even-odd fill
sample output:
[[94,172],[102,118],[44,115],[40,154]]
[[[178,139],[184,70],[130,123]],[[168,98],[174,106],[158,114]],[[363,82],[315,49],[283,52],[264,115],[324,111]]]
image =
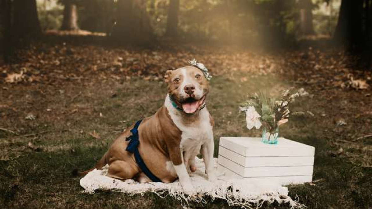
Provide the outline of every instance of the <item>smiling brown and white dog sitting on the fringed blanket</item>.
[[[187,66],[169,70],[165,75],[168,94],[164,105],[142,120],[139,128],[138,151],[148,169],[164,183],[179,178],[187,194],[195,194],[188,171],[195,171],[195,157],[200,153],[208,180],[217,180],[213,168],[214,122],[205,106],[209,85],[203,72]],[[172,101],[174,102],[172,105]],[[204,108],[203,108],[204,107]],[[94,168],[108,164],[108,176],[141,183],[151,180],[138,167],[134,155],[126,151],[134,125],[119,136]],[[91,170],[93,170],[92,168]],[[89,171],[80,172],[84,175]]]

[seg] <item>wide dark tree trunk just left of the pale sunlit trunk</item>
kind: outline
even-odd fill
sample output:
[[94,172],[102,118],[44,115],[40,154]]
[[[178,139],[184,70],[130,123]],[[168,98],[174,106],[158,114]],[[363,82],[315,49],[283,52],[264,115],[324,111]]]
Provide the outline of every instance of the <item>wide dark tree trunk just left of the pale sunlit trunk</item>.
[[41,35],[36,0],[13,0],[13,32],[17,37]]

